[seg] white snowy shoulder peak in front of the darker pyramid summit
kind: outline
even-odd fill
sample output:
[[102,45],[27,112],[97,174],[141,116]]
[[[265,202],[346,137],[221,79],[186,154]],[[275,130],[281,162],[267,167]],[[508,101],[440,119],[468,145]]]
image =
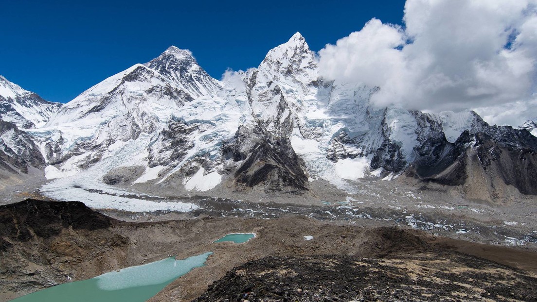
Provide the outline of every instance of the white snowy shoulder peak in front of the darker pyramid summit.
[[[179,85],[136,64],[78,95],[45,126],[31,132],[45,139],[49,161],[88,151],[98,157],[113,143],[162,129],[173,112],[190,100]],[[52,146],[60,154],[50,152]]]

